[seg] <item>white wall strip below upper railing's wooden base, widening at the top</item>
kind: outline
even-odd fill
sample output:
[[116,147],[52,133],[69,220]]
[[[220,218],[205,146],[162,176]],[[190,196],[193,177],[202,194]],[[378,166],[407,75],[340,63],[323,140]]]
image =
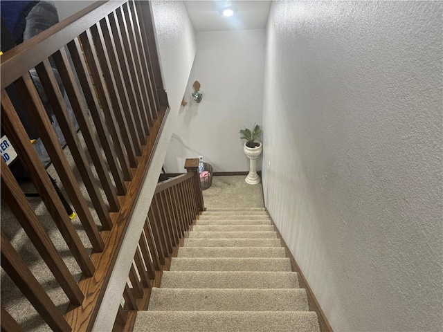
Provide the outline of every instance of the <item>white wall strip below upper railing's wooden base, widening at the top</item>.
[[[111,331],[114,318],[120,305],[132,257],[138,239],[145,223],[147,211],[154,195],[156,183],[159,179],[161,166],[165,160],[166,150],[172,136],[172,129],[177,118],[181,97],[186,89],[192,62],[195,57],[194,29],[188,18],[188,13],[182,1],[152,1],[152,12],[156,28],[157,45],[161,56],[163,71],[163,84],[168,91],[170,113],[165,122],[159,145],[155,151],[152,165],[147,179],[143,185],[140,198],[136,203],[134,215],[129,223],[129,228],[123,246],[120,249],[102,306],[98,313],[93,331]],[[174,24],[171,24],[174,22]],[[184,165],[185,160],[181,160]],[[131,257],[131,259],[128,259]]]

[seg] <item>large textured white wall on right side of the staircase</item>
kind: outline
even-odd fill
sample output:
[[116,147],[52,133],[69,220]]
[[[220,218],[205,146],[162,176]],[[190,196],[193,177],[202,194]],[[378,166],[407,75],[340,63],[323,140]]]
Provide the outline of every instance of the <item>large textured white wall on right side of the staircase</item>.
[[329,322],[443,331],[442,3],[275,1],[268,24],[266,207]]

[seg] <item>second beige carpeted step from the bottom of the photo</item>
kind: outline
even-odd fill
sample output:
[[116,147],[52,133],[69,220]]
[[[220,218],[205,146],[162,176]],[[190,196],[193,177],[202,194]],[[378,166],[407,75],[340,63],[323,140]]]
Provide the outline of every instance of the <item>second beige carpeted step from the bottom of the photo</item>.
[[152,288],[152,311],[309,311],[306,290]]

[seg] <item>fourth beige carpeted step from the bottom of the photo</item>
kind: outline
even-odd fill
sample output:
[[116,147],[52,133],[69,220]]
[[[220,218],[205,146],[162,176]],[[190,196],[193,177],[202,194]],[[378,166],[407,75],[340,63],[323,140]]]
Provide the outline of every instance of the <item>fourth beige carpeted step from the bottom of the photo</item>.
[[170,271],[285,271],[289,258],[182,258],[171,259]]

